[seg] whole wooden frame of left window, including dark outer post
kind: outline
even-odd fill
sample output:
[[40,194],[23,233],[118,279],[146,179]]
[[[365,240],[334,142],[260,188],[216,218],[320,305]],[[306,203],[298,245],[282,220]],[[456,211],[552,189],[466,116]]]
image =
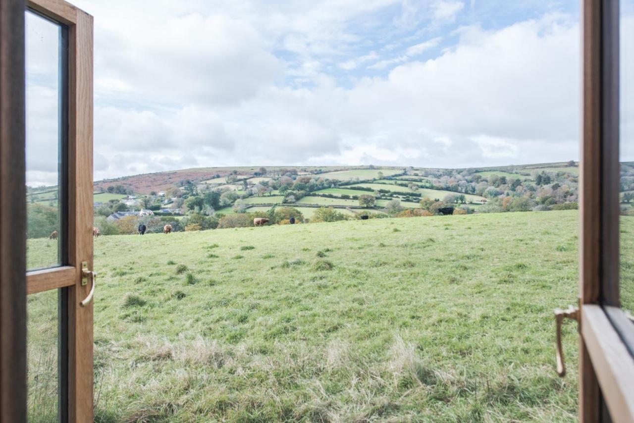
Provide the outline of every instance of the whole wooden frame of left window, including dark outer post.
[[[60,267],[27,272],[25,11],[67,30],[67,247]],[[62,56],[64,58],[64,56]],[[20,159],[22,158],[22,159]],[[64,228],[62,228],[64,230]],[[60,289],[60,415],[93,421],[93,17],[63,0],[0,1],[0,421],[27,420],[27,294]],[[67,358],[67,360],[64,360]]]

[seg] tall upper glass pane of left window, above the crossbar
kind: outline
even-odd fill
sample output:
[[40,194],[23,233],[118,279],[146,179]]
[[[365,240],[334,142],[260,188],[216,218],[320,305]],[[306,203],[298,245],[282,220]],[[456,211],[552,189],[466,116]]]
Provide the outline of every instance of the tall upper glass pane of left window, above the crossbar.
[[61,263],[61,27],[26,13],[27,268]]

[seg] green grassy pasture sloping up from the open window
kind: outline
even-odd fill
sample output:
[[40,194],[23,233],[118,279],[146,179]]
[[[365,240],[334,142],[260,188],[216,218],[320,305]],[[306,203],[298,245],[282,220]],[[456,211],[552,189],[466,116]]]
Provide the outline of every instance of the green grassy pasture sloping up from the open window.
[[552,310],[577,233],[552,211],[96,238],[96,421],[574,422]]

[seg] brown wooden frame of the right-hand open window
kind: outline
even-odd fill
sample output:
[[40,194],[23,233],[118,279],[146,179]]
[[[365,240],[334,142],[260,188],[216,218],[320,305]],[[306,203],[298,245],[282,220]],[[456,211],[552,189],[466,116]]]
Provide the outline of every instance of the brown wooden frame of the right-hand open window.
[[583,0],[579,420],[634,422],[634,325],[619,301],[619,4]]

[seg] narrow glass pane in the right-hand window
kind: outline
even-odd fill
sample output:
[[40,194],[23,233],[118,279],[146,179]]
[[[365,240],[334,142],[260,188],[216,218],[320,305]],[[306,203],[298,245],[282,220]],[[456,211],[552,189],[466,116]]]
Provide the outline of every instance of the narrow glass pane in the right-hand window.
[[634,0],[621,1],[621,303],[634,311]]

